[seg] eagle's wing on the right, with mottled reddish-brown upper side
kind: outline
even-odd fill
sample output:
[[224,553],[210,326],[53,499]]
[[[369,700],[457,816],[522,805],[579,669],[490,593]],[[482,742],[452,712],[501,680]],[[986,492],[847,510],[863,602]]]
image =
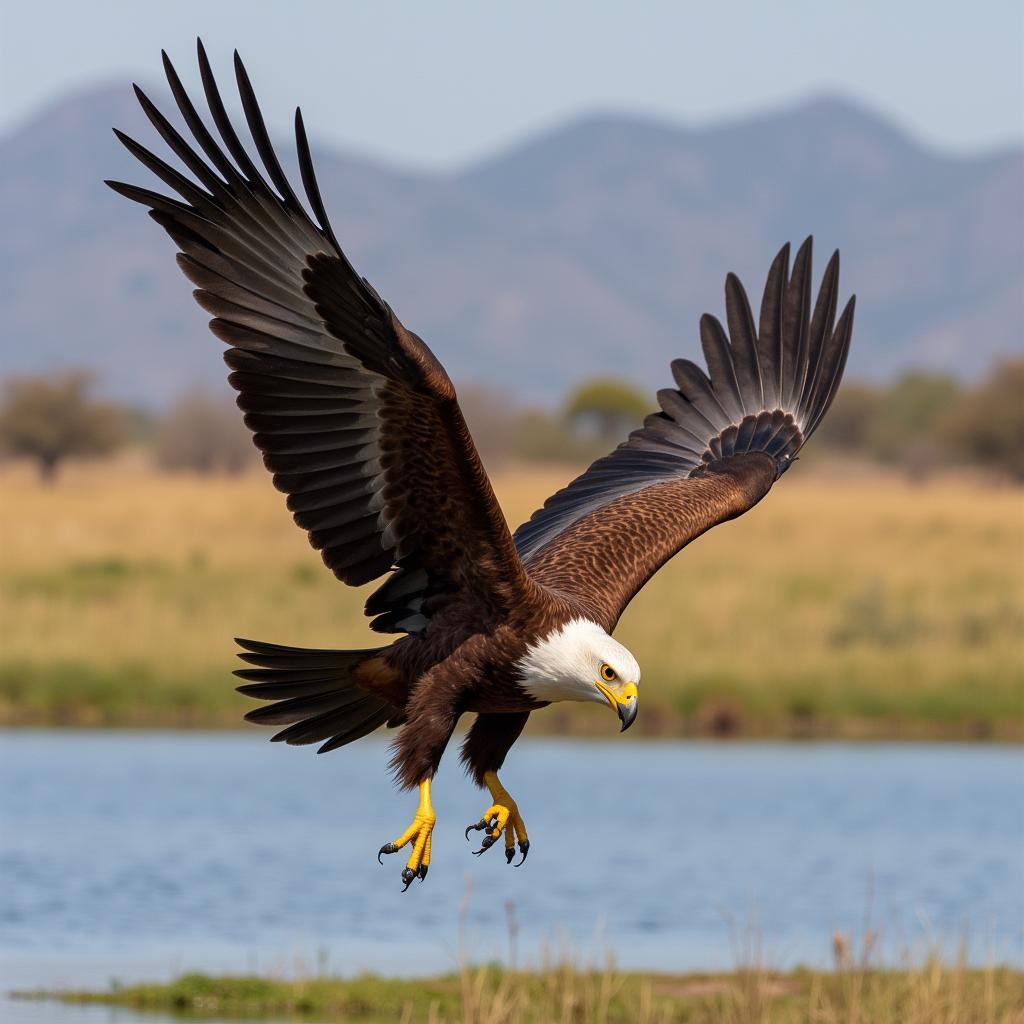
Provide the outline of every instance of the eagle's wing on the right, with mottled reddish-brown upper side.
[[[728,335],[700,319],[709,374],[676,359],[662,412],[515,532],[529,574],[610,630],[641,587],[705,530],[757,504],[824,416],[846,365],[854,299],[836,324],[839,253],[811,311],[811,239],[768,272],[760,325],[725,283]],[[835,327],[834,327],[835,325]],[[710,376],[709,376],[710,375]]]

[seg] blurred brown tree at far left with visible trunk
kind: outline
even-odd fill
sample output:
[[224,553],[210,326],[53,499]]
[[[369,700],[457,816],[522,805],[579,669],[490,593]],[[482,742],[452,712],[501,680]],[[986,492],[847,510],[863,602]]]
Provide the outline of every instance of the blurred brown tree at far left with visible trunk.
[[92,398],[92,384],[85,370],[8,378],[0,401],[0,445],[35,459],[47,483],[65,459],[114,452],[125,437],[124,410]]

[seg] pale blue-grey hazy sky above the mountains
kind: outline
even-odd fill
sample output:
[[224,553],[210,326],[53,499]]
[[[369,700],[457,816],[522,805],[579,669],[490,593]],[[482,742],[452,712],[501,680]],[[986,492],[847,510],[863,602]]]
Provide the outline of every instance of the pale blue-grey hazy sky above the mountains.
[[86,83],[246,58],[271,125],[452,166],[573,114],[699,123],[842,93],[945,150],[1024,139],[1022,0],[0,0],[0,132]]

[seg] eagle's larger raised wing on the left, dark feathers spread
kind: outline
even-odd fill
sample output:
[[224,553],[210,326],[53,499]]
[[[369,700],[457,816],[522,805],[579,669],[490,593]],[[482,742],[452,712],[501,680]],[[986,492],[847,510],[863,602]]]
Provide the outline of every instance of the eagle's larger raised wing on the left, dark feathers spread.
[[[470,588],[485,606],[514,600],[529,581],[452,383],[345,258],[301,115],[299,167],[316,221],[281,168],[238,53],[236,77],[262,170],[236,134],[202,43],[199,63],[219,141],[166,53],[167,79],[198,150],[135,90],[194,179],[118,132],[181,201],[108,184],[147,206],[177,244],[197,301],[214,316],[211,330],[230,346],[228,380],[295,521],[347,584],[399,567],[388,580],[398,605],[378,599],[373,609],[392,631],[421,629],[427,596]],[[393,586],[396,578],[404,587]]]

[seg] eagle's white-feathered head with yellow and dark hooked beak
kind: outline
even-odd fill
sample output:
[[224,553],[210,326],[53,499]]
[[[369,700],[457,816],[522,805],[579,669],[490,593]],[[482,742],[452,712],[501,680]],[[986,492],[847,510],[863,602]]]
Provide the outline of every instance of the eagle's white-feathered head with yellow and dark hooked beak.
[[636,718],[637,659],[597,623],[573,618],[532,644],[516,665],[535,700],[594,700],[613,708],[628,729]]

